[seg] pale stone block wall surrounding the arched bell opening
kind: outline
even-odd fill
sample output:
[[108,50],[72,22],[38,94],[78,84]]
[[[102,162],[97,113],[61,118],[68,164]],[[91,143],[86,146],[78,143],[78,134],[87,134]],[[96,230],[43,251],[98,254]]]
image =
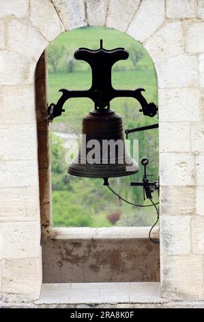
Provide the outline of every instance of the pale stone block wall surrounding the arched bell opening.
[[50,41],[85,25],[127,32],[154,60],[160,108],[162,296],[203,299],[203,0],[1,0],[1,292],[8,299],[39,297],[35,66]]

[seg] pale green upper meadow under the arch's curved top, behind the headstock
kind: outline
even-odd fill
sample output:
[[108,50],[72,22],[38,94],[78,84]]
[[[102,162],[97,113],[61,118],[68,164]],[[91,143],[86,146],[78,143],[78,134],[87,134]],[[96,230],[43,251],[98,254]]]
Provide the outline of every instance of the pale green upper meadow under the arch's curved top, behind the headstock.
[[[56,49],[61,51],[60,60],[57,60],[57,72],[66,73],[68,71],[68,58],[74,64],[74,72],[76,71],[90,71],[87,62],[74,59],[74,51],[79,47],[88,47],[90,49],[98,49],[100,46],[100,38],[103,39],[103,47],[106,49],[113,49],[113,47],[121,47],[121,44],[126,49],[136,49],[139,53],[143,53],[141,60],[137,63],[138,69],[149,69],[149,62],[151,59],[147,54],[147,51],[143,48],[139,42],[133,40],[127,34],[118,32],[115,29],[108,29],[106,27],[83,27],[74,29],[70,32],[65,32],[57,37],[48,46],[48,57],[56,55]],[[55,50],[53,50],[55,49]],[[53,53],[54,51],[54,53]],[[49,62],[49,73],[53,72],[53,66]],[[121,60],[113,66],[113,71],[132,71],[132,61],[130,58],[128,60]],[[54,72],[55,73],[55,72]]]

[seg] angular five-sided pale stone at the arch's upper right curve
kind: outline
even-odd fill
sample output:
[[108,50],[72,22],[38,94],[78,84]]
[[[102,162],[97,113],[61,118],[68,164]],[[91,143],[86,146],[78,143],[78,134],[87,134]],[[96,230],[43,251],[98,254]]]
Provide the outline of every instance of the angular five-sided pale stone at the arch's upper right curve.
[[157,63],[184,53],[184,34],[181,22],[165,23],[157,32],[148,38],[147,42],[144,43],[144,47],[154,62]]

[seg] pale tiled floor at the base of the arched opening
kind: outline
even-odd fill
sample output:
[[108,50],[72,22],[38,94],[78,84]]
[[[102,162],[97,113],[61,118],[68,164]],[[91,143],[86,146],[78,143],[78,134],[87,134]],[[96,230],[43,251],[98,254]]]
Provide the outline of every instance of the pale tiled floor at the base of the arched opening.
[[161,302],[160,284],[66,283],[42,284],[38,304],[102,304]]

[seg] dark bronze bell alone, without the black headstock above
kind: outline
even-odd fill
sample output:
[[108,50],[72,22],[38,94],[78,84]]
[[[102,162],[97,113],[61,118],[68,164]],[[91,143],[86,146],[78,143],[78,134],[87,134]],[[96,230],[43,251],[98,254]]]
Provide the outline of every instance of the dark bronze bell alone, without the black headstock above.
[[70,175],[108,178],[139,171],[126,151],[122,119],[114,110],[96,108],[89,112],[83,118],[82,134],[80,151],[68,169]]

